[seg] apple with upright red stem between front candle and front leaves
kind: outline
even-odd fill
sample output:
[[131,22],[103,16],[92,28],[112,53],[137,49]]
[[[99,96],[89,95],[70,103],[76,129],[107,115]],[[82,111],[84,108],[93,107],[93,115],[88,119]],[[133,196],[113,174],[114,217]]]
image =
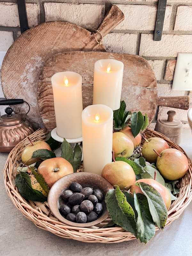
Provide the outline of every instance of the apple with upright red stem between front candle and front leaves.
[[123,161],[106,164],[101,176],[111,185],[118,185],[120,189],[135,183],[135,173],[131,165]]

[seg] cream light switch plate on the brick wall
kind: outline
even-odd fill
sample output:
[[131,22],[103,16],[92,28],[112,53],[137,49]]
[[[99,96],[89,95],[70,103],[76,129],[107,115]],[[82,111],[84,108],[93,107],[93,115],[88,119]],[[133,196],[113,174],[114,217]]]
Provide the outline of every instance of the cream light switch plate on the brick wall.
[[178,53],[172,90],[192,91],[192,53]]

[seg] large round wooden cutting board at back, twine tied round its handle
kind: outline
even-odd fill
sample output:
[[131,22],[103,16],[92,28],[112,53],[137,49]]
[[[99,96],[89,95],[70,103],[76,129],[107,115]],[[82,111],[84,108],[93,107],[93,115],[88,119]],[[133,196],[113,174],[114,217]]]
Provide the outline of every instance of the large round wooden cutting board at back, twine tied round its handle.
[[[97,40],[100,40],[100,33],[105,36],[123,19],[119,8],[112,6],[99,32],[95,32]],[[27,30],[9,48],[2,64],[1,82],[5,98],[26,100],[31,106],[29,121],[36,128],[44,127],[37,104],[37,86],[47,59],[59,52],[92,51],[93,48],[106,51],[103,44],[95,40],[93,33],[69,22],[50,21]],[[13,106],[13,110],[25,113],[21,105]]]

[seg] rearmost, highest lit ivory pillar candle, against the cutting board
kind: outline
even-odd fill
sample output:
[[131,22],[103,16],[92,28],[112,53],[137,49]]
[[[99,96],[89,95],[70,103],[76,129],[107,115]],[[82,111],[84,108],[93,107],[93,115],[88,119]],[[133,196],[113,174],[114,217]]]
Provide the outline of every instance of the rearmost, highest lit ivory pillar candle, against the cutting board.
[[104,104],[116,110],[120,108],[124,64],[118,60],[95,62],[93,104]]

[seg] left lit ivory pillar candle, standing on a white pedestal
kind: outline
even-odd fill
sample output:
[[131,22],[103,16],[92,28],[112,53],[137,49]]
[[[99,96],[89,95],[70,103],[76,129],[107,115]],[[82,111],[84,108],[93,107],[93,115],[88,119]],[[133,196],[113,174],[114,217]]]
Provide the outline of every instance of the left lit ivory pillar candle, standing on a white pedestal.
[[75,72],[59,72],[51,82],[57,135],[65,139],[82,137],[82,77]]

